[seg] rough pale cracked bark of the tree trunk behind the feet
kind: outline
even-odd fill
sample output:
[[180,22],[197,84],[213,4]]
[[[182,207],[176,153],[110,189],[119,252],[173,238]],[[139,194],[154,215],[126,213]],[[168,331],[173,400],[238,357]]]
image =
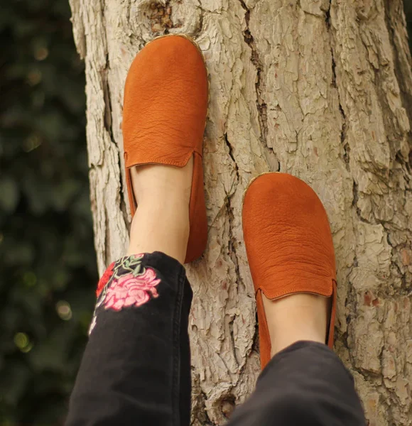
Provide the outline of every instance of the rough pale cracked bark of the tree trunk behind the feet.
[[124,253],[121,105],[134,55],[188,33],[205,53],[209,244],[195,293],[193,424],[222,425],[259,374],[241,207],[251,178],[292,173],[330,217],[335,349],[369,425],[412,424],[412,73],[401,0],[70,0],[87,74],[99,271]]

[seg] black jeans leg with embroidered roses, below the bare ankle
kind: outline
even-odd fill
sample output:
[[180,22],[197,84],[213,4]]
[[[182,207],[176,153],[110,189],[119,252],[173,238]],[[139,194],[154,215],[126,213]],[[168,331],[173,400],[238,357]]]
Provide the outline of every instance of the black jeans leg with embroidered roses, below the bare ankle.
[[100,286],[67,426],[189,425],[183,266],[164,253],[124,256]]

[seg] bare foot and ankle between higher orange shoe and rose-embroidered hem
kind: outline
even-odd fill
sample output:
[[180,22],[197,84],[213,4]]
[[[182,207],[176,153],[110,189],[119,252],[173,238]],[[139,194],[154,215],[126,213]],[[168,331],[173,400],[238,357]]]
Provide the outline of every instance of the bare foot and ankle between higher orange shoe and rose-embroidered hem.
[[185,261],[192,176],[193,157],[183,168],[155,164],[131,169],[137,210],[128,255],[162,251]]

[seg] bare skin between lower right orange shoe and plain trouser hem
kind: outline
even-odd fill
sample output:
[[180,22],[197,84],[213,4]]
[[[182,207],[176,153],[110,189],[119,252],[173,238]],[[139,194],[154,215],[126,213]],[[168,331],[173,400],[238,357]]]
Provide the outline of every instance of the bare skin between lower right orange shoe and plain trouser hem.
[[269,300],[262,294],[271,337],[271,356],[299,340],[325,343],[330,297],[297,293]]

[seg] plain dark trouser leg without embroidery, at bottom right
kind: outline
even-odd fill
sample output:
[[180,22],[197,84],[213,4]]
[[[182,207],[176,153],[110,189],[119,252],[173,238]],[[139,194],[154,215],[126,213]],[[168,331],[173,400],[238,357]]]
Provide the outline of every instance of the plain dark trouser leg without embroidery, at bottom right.
[[365,426],[352,375],[325,344],[300,341],[278,352],[228,426]]

